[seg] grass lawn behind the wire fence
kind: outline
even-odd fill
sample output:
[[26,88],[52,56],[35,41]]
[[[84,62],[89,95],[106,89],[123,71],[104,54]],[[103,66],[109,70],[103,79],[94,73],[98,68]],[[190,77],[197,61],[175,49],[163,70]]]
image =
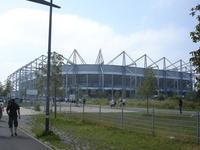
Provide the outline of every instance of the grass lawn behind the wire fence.
[[[71,114],[73,117],[81,117],[80,114]],[[134,132],[143,132],[150,134],[152,130],[152,114],[124,112],[123,122],[121,119],[121,113],[85,113],[84,118],[94,122],[106,122],[111,126],[118,128],[125,128]],[[196,129],[196,117],[185,115],[169,115],[159,114],[155,115],[154,132],[156,135],[174,136],[180,138],[182,141],[195,141],[195,129]],[[100,120],[100,121],[99,121]],[[123,123],[123,124],[122,124]]]

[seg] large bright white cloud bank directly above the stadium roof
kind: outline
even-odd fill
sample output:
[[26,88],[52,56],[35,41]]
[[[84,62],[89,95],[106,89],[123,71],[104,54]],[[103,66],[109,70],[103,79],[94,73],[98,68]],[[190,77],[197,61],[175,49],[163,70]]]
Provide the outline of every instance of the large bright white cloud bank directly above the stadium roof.
[[[0,15],[0,70],[7,75],[47,53],[48,12],[31,9],[14,9]],[[182,48],[187,41],[186,32],[173,26],[117,34],[112,27],[72,14],[53,15],[52,50],[69,57],[77,49],[88,63],[94,63],[101,48],[108,62],[125,50],[135,60],[148,54],[157,60],[169,56],[172,60],[186,58]],[[188,38],[189,39],[189,38]],[[183,52],[185,54],[183,54]],[[187,56],[188,57],[188,56]],[[9,65],[9,69],[5,67]]]

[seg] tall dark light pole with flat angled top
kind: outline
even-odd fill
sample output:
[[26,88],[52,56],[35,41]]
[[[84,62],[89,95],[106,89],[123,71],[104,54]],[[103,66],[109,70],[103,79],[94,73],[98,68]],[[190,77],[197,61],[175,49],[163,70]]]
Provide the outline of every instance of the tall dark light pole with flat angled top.
[[50,95],[50,66],[51,66],[51,26],[52,26],[52,7],[61,8],[53,4],[53,0],[47,2],[45,0],[27,0],[35,3],[39,3],[42,5],[47,5],[50,7],[49,10],[49,37],[48,37],[48,62],[47,62],[47,91],[46,91],[46,115],[45,115],[45,132],[49,131],[49,95]]

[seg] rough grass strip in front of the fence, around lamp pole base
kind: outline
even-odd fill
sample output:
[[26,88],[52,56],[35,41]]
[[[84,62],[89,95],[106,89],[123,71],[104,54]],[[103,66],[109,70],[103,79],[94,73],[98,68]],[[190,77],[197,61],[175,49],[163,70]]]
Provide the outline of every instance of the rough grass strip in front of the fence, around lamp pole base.
[[199,146],[193,142],[170,139],[164,135],[153,137],[146,133],[120,129],[107,122],[82,121],[73,115],[69,117],[60,114],[57,119],[51,117],[50,120],[52,129],[75,141],[66,143],[55,134],[46,137],[42,134],[44,117],[37,116],[33,122],[33,132],[38,138],[55,145],[56,149],[75,149],[78,146],[79,149],[87,150],[199,150]]

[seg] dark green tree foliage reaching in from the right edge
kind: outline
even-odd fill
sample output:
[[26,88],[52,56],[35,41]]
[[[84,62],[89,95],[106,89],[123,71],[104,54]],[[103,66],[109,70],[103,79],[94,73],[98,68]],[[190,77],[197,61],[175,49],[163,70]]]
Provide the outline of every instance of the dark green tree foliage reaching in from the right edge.
[[[190,33],[190,36],[194,43],[199,43],[200,42],[200,4],[198,4],[196,7],[191,9],[191,15],[193,17],[196,17],[197,25],[195,27],[195,30]],[[190,61],[195,67],[195,71],[197,73],[195,86],[198,90],[198,93],[200,94],[200,47],[197,50],[192,51],[191,54],[192,54],[192,57],[190,58]]]

